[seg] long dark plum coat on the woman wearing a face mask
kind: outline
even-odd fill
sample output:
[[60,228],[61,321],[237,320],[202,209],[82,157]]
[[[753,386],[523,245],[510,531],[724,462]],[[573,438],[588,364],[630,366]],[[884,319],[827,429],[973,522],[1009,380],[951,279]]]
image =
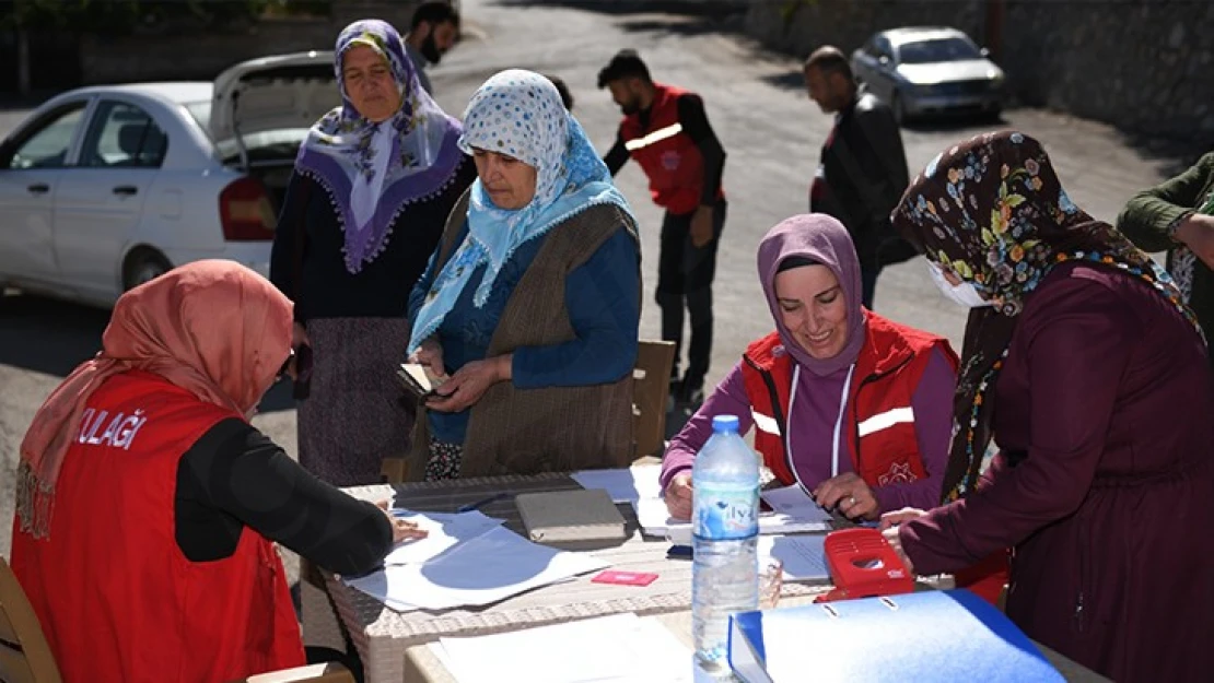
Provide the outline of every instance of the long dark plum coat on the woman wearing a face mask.
[[1209,681],[1214,372],[1136,278],[1084,263],[1026,300],[993,399],[1000,454],[903,524],[918,574],[1014,547],[1008,615],[1118,682]]

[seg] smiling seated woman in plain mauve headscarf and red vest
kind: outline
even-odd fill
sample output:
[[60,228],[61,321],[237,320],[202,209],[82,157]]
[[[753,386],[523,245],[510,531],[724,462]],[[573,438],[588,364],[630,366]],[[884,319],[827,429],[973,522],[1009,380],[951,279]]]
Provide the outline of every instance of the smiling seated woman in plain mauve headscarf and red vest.
[[948,341],[861,306],[860,262],[834,218],[794,216],[759,245],[776,331],[753,342],[666,448],[662,484],[691,514],[691,467],[715,415],[737,415],[785,485],[873,520],[931,505],[948,457],[957,355]]

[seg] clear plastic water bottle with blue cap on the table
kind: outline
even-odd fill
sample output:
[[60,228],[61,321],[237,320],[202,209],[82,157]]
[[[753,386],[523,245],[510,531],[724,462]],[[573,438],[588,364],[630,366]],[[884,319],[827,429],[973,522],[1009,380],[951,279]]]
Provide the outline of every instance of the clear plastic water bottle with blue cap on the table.
[[730,614],[759,605],[759,459],[717,415],[692,468],[692,637],[699,668],[728,677]]

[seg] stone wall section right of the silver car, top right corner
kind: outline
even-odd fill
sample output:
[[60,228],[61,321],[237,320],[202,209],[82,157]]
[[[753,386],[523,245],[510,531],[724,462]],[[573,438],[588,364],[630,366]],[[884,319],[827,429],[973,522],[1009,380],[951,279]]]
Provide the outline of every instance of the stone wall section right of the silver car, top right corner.
[[1214,2],[1006,0],[1008,82],[1031,104],[1214,147]]

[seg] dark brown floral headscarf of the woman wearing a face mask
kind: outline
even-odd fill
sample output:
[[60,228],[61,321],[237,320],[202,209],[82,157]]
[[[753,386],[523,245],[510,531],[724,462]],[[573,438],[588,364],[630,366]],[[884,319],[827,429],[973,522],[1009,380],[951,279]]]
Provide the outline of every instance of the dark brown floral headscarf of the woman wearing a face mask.
[[994,406],[986,397],[1025,297],[1056,263],[1087,260],[1125,271],[1150,283],[1197,325],[1163,268],[1076,206],[1045,149],[1023,133],[986,133],[938,154],[907,188],[892,218],[929,261],[994,303],[972,309],[965,326],[944,501],[965,495],[977,482],[993,437]]

